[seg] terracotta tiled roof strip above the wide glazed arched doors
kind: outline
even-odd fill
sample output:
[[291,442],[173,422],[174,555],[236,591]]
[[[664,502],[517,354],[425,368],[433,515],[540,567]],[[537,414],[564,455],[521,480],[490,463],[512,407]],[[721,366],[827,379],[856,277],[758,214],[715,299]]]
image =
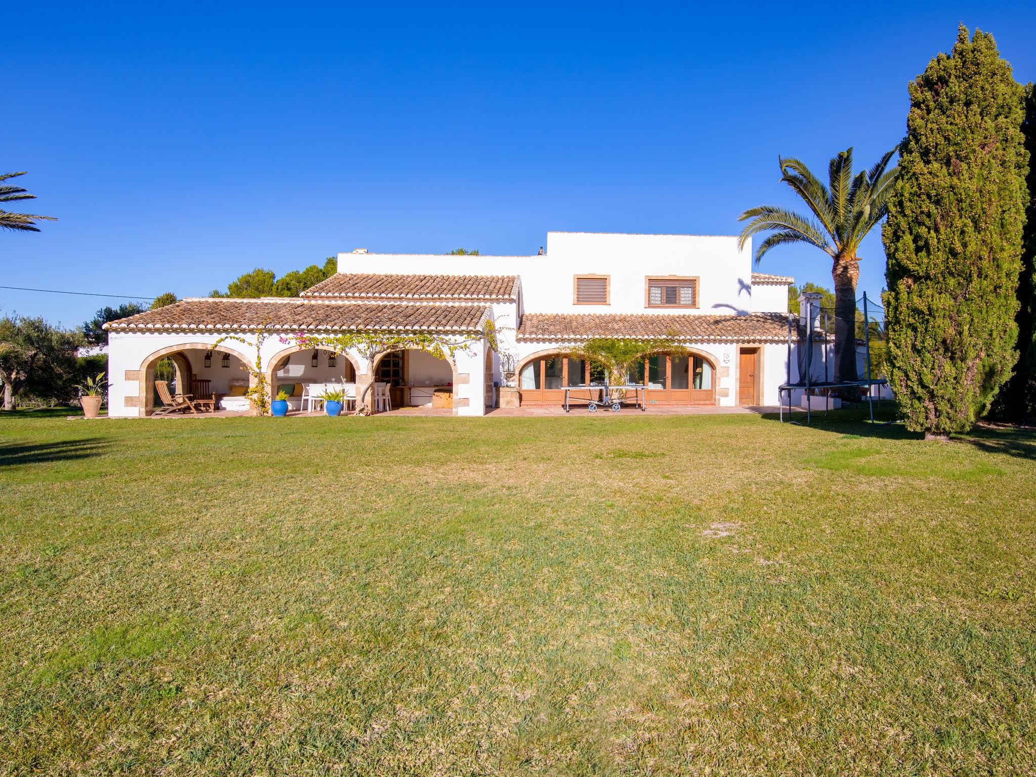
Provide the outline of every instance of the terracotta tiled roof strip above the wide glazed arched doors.
[[526,313],[518,340],[586,340],[674,337],[701,343],[782,342],[787,340],[787,314],[747,316],[649,315],[640,313]]

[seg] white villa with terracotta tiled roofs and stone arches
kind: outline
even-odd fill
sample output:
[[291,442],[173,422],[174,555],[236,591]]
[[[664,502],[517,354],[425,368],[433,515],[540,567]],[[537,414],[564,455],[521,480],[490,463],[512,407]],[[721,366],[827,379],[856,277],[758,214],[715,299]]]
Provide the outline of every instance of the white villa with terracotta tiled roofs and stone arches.
[[[246,365],[257,356],[272,393],[294,386],[293,399],[308,383],[358,388],[376,380],[391,384],[394,406],[427,405],[436,387],[449,388],[459,415],[483,415],[501,402],[559,405],[562,386],[598,378],[569,355],[594,337],[674,337],[686,345],[686,354],[648,354],[632,371],[648,386],[649,406],[776,405],[790,354],[790,283],[753,272],[750,247],[740,251],[732,236],[550,232],[534,256],[357,249],[339,255],[338,275],[298,297],[188,298],[107,324],[109,414],[153,411],[162,359],[173,363],[180,391],[204,385],[220,402],[241,393]],[[481,337],[487,322],[498,334],[496,351]],[[289,337],[355,329],[471,342],[452,359],[387,353],[372,372],[358,353],[303,349]],[[272,336],[257,351],[260,330]],[[218,343],[228,335],[237,339]],[[499,390],[509,383],[517,391]]]

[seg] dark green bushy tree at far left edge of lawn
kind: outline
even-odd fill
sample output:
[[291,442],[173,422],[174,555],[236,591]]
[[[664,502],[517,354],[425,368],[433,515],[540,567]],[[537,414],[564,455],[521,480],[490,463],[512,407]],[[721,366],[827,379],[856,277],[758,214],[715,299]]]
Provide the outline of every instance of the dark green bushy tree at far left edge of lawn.
[[15,409],[15,398],[25,390],[45,397],[64,398],[76,375],[78,332],[51,326],[41,318],[0,318],[0,382],[3,407]]

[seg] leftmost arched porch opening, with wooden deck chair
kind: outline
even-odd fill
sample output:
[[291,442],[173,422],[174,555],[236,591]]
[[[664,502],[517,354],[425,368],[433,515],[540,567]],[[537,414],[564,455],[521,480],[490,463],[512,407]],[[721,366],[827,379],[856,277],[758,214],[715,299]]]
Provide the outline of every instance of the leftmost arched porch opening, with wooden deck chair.
[[144,398],[140,408],[142,415],[150,415],[155,406],[162,404],[155,387],[155,367],[164,361],[172,363],[171,395],[214,399],[217,409],[223,397],[243,396],[252,382],[247,356],[233,348],[209,343],[171,345],[151,353],[141,363],[138,396]]

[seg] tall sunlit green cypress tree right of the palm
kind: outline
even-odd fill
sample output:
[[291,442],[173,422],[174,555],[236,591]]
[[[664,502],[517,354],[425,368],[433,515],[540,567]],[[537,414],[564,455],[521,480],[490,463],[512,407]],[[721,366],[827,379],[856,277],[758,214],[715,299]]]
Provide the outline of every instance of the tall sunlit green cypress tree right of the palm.
[[910,85],[884,229],[893,390],[906,427],[966,431],[1016,361],[1024,90],[991,35],[961,25]]

